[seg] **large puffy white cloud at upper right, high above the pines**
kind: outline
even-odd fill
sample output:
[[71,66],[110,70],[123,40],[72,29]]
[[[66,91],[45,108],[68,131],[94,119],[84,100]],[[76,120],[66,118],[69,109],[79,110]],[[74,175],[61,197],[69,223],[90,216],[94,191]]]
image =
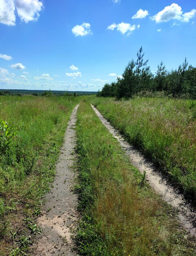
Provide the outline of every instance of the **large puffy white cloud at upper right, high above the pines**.
[[167,22],[170,20],[189,22],[191,18],[194,18],[195,14],[196,9],[192,9],[192,11],[183,14],[182,8],[178,4],[171,4],[150,18],[151,20],[155,20],[156,23]]

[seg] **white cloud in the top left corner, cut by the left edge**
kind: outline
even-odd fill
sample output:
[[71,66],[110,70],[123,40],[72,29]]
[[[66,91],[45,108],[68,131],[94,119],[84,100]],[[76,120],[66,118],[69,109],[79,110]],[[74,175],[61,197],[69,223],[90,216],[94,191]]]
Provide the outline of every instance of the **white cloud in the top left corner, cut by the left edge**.
[[14,0],[0,0],[0,23],[5,25],[15,25],[15,5]]

